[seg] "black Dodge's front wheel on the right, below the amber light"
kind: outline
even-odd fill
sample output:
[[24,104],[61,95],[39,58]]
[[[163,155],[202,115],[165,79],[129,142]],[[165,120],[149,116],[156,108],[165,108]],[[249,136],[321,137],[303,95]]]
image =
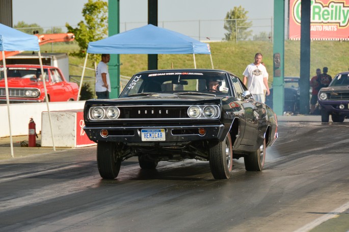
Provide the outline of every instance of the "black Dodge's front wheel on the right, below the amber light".
[[230,134],[224,141],[209,141],[209,166],[214,179],[229,179],[233,167],[233,150]]

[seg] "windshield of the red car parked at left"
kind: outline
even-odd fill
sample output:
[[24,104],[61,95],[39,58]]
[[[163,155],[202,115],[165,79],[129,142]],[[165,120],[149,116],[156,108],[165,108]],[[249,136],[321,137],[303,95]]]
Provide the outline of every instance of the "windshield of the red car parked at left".
[[[5,78],[4,76],[4,68],[0,68],[0,79]],[[48,74],[47,74],[47,69],[44,69],[46,81],[48,81]],[[17,78],[30,78],[37,80],[38,78],[41,78],[41,69],[40,68],[7,68],[7,77],[17,77]]]

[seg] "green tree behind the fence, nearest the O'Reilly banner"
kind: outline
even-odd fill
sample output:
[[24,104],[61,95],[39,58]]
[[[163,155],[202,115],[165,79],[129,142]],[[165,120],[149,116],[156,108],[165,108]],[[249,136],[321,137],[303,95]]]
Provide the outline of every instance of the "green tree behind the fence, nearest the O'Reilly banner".
[[247,13],[248,11],[241,6],[234,7],[233,10],[227,12],[224,29],[228,33],[225,33],[225,40],[246,40],[252,35],[252,32],[249,31],[252,22],[247,21]]

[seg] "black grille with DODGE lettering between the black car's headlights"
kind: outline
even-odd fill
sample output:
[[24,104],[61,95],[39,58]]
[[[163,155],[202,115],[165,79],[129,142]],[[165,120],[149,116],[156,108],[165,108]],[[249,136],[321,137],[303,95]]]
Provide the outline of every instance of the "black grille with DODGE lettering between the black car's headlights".
[[189,118],[188,106],[120,107],[121,119],[183,119]]

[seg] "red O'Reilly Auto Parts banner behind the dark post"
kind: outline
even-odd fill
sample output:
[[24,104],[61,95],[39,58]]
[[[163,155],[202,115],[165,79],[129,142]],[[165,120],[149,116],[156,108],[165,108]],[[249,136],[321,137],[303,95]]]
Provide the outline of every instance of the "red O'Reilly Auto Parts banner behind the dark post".
[[[349,0],[310,2],[311,40],[349,40]],[[301,39],[301,0],[289,0],[289,39]]]

